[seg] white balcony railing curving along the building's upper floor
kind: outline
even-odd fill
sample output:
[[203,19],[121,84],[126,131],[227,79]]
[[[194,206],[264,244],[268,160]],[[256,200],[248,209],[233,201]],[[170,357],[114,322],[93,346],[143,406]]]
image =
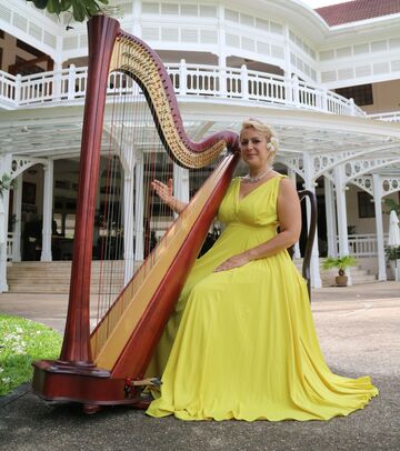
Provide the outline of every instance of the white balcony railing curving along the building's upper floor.
[[[166,64],[178,96],[213,97],[251,100],[291,108],[316,110],[341,116],[366,113],[352,99],[348,100],[318,84],[306,83],[297,77],[286,78],[272,73],[216,66]],[[33,76],[10,76],[0,71],[0,107],[26,108],[54,102],[83,102],[87,68],[76,68]],[[108,94],[124,96],[136,92],[134,82],[123,73],[111,73]],[[139,93],[139,91],[137,90]]]

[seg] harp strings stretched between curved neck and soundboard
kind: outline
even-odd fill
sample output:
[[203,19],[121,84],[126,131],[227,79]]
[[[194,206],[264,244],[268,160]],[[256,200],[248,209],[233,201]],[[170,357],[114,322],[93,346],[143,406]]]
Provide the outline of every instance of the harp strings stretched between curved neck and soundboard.
[[[119,63],[117,63],[118,66]],[[139,62],[136,62],[139,64]],[[132,71],[136,69],[133,68]],[[139,69],[138,69],[139,70]],[[110,120],[109,150],[103,157],[102,170],[106,174],[106,191],[99,193],[100,204],[102,204],[103,227],[101,231],[101,257],[103,262],[100,263],[102,275],[99,284],[97,300],[96,331],[92,334],[91,347],[92,353],[99,354],[108,337],[114,331],[122,313],[128,307],[131,308],[131,299],[138,292],[143,282],[148,279],[152,267],[158,261],[159,255],[169,247],[169,234],[153,249],[150,242],[151,237],[160,239],[168,225],[172,222],[173,217],[170,209],[162,204],[150,189],[150,183],[154,178],[168,182],[172,178],[173,163],[164,152],[158,131],[153,123],[156,108],[148,107],[142,92],[138,89],[136,82],[124,73],[117,72],[113,77],[113,100]],[[121,96],[121,91],[124,93]],[[127,151],[128,149],[128,151]],[[129,152],[134,152],[132,156]],[[122,164],[124,161],[124,168]],[[136,161],[134,170],[132,161]],[[128,161],[128,163],[127,163]],[[128,164],[128,167],[127,167]],[[131,167],[129,167],[131,164]],[[122,189],[124,171],[131,170],[131,182],[134,189],[129,192]],[[202,184],[208,170],[192,169],[190,172],[191,181],[190,193]],[[117,174],[119,173],[119,178]],[[113,183],[120,183],[120,190],[117,202],[118,190],[111,188]],[[193,184],[194,183],[194,184]],[[101,191],[101,188],[100,188]],[[129,214],[127,210],[122,214],[122,206],[133,206],[133,219],[123,218]],[[130,230],[127,228],[134,227]],[[119,229],[119,232],[117,232]],[[119,265],[127,271],[127,255],[121,247],[124,247],[124,240],[129,233],[134,234],[134,260],[133,268],[134,279],[131,280],[117,298],[120,281],[117,281],[117,271]],[[121,251],[122,249],[122,251]],[[148,259],[143,260],[143,257]],[[121,260],[122,259],[122,260]],[[122,271],[122,272],[123,272]],[[129,278],[132,273],[128,274]],[[129,279],[128,278],[128,279]],[[123,274],[127,281],[127,274]],[[123,284],[123,282],[122,282]],[[108,314],[104,317],[104,313]]]

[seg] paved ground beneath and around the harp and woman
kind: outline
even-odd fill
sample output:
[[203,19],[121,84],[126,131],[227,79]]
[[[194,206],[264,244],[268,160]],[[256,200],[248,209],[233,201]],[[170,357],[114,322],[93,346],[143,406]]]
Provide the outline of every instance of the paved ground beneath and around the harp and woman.
[[[21,390],[0,407],[0,450],[400,450],[400,284],[313,291],[312,311],[332,371],[370,374],[380,395],[327,422],[182,422],[129,408],[84,415]],[[66,295],[0,294],[0,311],[63,329]]]

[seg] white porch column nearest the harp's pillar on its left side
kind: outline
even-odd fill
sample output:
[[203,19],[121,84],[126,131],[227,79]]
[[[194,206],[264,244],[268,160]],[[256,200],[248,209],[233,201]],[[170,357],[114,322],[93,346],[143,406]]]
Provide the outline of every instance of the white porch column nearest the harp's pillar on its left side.
[[40,261],[51,261],[51,232],[52,232],[52,199],[53,199],[53,173],[54,162],[48,160],[43,167],[44,186],[43,186],[43,228],[42,228],[42,251]]

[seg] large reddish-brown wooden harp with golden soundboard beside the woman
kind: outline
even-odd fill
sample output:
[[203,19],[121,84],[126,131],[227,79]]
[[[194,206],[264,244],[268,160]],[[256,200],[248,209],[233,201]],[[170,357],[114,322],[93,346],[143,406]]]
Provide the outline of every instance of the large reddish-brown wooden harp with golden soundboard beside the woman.
[[[76,401],[96,411],[101,404],[134,404],[132,381],[143,378],[162,329],[173,309],[238,162],[238,136],[219,132],[192,142],[183,130],[173,86],[161,60],[141,40],[120,30],[118,21],[94,17],[88,23],[89,72],[80,158],[77,222],[64,339],[59,360],[33,363],[32,387],[51,401]],[[150,106],[154,129],[171,158],[187,168],[226,157],[173,222],[151,258],[136,271],[90,331],[94,200],[106,87],[118,70],[133,79]]]

